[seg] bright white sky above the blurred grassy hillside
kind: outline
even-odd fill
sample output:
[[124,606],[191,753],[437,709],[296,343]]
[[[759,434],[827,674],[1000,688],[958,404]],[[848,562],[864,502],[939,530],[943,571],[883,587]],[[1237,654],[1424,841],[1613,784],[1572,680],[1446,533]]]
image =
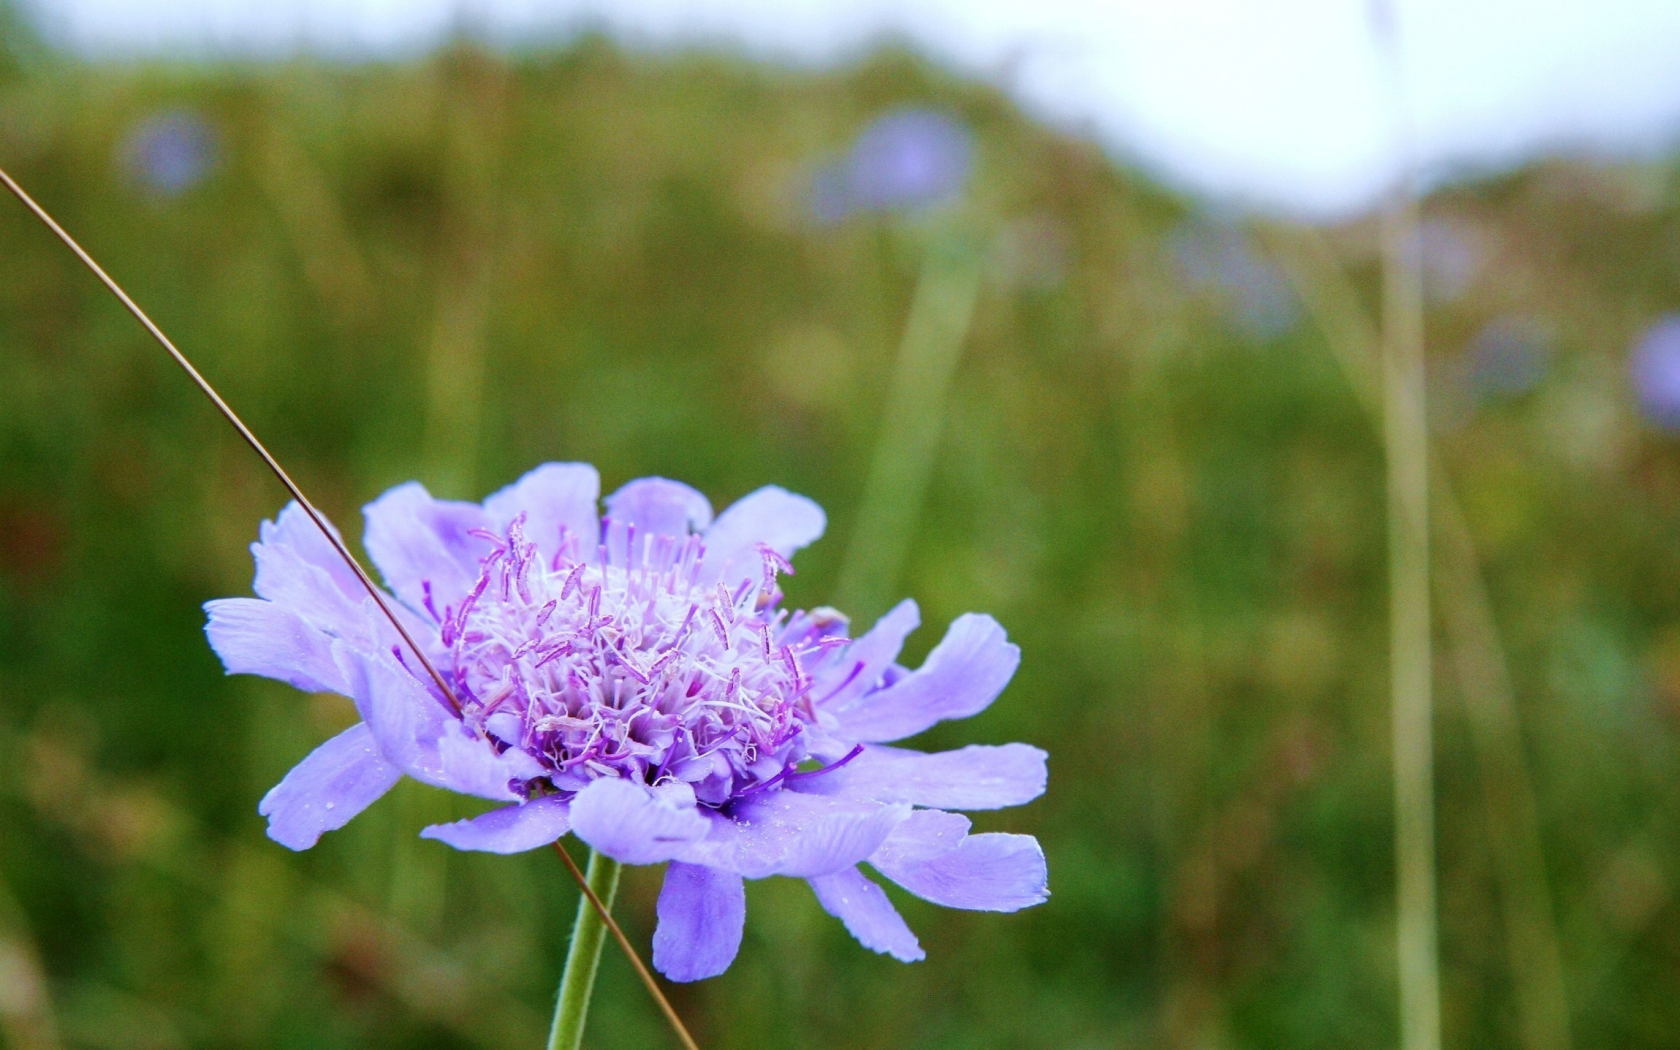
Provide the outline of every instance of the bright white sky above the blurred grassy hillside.
[[[1680,0],[1393,0],[1425,171],[1680,144]],[[608,27],[833,62],[884,34],[1200,193],[1359,210],[1396,171],[1368,0],[22,0],[92,54],[408,52]]]

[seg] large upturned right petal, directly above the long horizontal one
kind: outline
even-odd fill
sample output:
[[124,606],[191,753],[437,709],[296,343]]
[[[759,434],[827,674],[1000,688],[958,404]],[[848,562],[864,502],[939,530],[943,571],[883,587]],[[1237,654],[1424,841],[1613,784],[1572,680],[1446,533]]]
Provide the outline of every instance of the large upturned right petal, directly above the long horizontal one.
[[1021,650],[996,620],[966,613],[919,670],[830,711],[842,736],[870,744],[904,739],[942,719],[979,714],[1010,684],[1020,662]]

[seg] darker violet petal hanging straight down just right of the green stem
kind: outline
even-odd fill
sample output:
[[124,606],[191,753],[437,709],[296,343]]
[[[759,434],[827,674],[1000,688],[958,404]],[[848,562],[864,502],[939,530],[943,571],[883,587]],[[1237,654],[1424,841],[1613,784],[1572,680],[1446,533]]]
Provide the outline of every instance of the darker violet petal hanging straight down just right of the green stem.
[[672,860],[659,890],[654,966],[672,981],[702,981],[729,969],[746,927],[741,875]]

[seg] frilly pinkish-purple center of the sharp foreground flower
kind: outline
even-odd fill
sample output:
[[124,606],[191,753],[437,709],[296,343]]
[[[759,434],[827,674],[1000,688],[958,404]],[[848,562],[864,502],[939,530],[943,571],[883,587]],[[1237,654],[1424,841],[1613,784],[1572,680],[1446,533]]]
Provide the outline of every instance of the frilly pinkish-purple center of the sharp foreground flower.
[[427,608],[449,650],[462,721],[548,771],[559,791],[600,776],[687,783],[702,803],[780,786],[815,722],[803,659],[845,645],[838,615],[776,608],[786,559],[759,546],[761,580],[704,586],[699,536],[605,521],[553,559],[522,516],[492,544],[459,606]]

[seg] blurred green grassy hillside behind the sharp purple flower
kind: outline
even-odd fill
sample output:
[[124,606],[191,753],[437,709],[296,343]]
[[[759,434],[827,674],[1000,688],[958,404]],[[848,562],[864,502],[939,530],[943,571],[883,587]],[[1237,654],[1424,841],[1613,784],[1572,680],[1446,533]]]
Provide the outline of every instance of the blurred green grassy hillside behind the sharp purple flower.
[[[1371,223],[1198,208],[890,49],[816,74],[600,39],[386,64],[0,42],[0,165],[349,536],[391,484],[480,497],[553,459],[719,507],[781,484],[830,512],[791,600],[830,601],[924,259],[978,267],[949,388],[916,395],[942,425],[890,590],[922,603],[914,660],[968,610],[1021,645],[986,714],[919,743],[1050,751],[1045,798],[976,823],[1038,835],[1053,897],[894,890],[929,953],[902,966],[753,884],[734,968],[672,990],[704,1047],[1393,1043]],[[815,173],[909,104],[973,129],[963,202],[818,222]],[[160,126],[190,178],[144,166]],[[1672,1047],[1680,444],[1626,354],[1680,307],[1680,166],[1546,163],[1425,218],[1463,524],[1438,543],[1446,1043],[1559,1047],[1524,1001],[1561,976],[1562,1045]],[[576,902],[554,857],[417,840],[470,803],[413,783],[307,853],[264,837],[262,793],[353,719],[203,640],[281,504],[0,200],[7,1045],[541,1045]],[[642,946],[659,877],[620,897]],[[613,948],[586,1043],[672,1045]]]

